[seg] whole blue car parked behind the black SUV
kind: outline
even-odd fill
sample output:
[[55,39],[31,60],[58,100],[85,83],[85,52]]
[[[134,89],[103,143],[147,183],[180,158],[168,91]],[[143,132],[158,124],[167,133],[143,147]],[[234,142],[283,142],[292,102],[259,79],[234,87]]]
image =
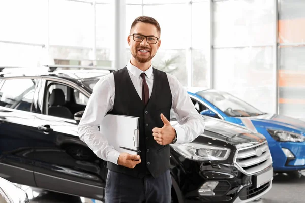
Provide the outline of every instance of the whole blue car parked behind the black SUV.
[[275,172],[305,169],[305,122],[267,114],[233,95],[206,89],[188,93],[198,112],[247,127],[266,137]]

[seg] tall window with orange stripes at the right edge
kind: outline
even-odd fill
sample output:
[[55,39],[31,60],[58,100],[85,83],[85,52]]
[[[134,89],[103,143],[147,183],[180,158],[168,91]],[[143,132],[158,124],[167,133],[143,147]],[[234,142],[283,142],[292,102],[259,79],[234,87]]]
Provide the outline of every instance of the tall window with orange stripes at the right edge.
[[305,2],[280,1],[279,113],[305,118]]

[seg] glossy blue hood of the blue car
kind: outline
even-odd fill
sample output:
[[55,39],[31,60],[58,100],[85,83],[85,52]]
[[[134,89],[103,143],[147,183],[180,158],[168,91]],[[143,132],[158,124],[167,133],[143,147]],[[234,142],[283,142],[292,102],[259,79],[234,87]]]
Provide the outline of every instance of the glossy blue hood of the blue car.
[[[305,135],[305,122],[295,118],[278,114],[264,114],[247,118],[252,121],[255,127],[276,128],[288,131],[297,130]],[[241,118],[241,120],[245,120],[245,117]]]

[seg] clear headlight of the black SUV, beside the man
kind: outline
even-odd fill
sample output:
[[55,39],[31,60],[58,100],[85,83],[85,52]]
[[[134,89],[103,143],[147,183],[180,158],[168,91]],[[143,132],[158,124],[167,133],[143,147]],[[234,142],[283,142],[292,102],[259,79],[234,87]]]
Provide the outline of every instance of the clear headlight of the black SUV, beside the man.
[[207,161],[226,160],[230,155],[230,149],[215,147],[199,143],[171,144],[173,149],[187,159]]

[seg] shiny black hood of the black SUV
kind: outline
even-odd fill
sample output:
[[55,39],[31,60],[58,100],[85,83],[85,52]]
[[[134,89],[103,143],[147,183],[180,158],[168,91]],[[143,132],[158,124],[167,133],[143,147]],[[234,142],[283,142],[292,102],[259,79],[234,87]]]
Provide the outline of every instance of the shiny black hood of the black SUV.
[[232,145],[257,144],[265,141],[265,137],[245,127],[216,118],[204,117],[205,129],[201,136],[223,140]]

